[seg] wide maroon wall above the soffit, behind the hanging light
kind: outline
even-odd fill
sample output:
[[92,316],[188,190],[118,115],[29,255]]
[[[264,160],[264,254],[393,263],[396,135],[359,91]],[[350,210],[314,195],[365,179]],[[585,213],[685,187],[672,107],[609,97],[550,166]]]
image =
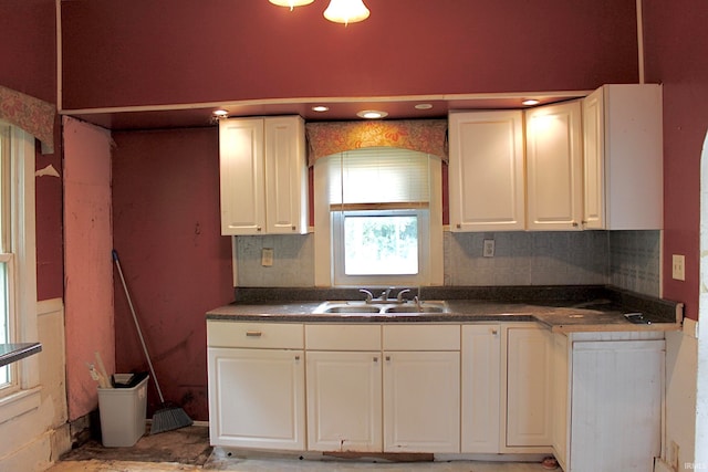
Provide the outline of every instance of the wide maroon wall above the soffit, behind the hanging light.
[[635,0],[62,3],[66,109],[247,98],[592,90],[637,81]]

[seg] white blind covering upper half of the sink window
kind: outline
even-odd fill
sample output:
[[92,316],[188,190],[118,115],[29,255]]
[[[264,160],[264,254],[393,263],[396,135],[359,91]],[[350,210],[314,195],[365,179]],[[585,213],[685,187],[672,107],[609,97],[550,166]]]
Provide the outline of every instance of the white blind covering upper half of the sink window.
[[410,208],[427,207],[430,200],[427,154],[372,147],[326,159],[331,206],[404,203]]

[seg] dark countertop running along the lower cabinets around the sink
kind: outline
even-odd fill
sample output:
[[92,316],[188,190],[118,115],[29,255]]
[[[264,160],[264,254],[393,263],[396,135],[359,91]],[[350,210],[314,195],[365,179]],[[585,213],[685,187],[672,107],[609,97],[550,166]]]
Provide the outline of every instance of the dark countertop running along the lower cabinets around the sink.
[[[465,291],[464,287],[424,289],[426,300],[446,300],[449,313],[434,314],[313,314],[323,300],[362,300],[362,295],[336,297],[342,293],[326,290],[324,298],[305,292],[315,301],[296,301],[298,294],[287,291],[284,296],[292,301],[280,300],[283,293],[271,289],[271,301],[261,300],[266,292],[256,291],[252,300],[243,300],[230,305],[211,310],[207,319],[241,322],[289,322],[289,323],[475,323],[475,322],[537,322],[553,332],[617,332],[617,331],[678,331],[683,304],[658,298],[650,298],[612,287],[594,287],[597,290],[575,290],[565,292],[563,287],[537,289],[535,297],[524,302],[517,300],[513,290],[499,292],[493,287],[492,296],[500,300],[483,300],[489,292],[479,292],[478,287]],[[522,294],[530,295],[527,287]],[[587,289],[587,287],[584,287]],[[292,291],[292,290],[291,290]],[[471,293],[470,293],[471,292]],[[541,296],[539,296],[541,294]],[[552,294],[552,296],[549,296]],[[345,294],[346,295],[346,294]],[[351,295],[351,294],[350,294]],[[460,298],[476,295],[479,298]],[[251,294],[252,296],[252,294]],[[533,296],[531,296],[533,297]],[[564,298],[565,297],[565,298]],[[246,297],[248,298],[248,297]],[[254,300],[253,300],[254,298]],[[511,298],[511,300],[509,300]],[[636,324],[629,322],[626,313],[639,312],[650,323]]]

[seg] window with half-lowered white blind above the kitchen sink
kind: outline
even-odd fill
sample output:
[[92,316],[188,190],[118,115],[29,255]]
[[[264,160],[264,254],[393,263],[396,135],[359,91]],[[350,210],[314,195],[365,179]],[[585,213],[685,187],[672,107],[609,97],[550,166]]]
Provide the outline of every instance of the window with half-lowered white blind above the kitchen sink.
[[[325,200],[319,208],[326,214],[315,220],[330,230],[332,285],[430,283],[430,222],[440,212],[431,198],[431,164],[439,168],[433,159],[379,147],[317,161],[317,176],[326,182],[315,185],[315,199]],[[315,235],[326,229],[316,228]]]

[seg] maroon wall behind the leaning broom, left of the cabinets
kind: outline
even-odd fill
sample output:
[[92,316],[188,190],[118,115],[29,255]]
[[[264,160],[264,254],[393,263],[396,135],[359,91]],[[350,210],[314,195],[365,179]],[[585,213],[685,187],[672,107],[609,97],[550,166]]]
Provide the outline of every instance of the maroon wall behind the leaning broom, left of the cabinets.
[[[114,133],[114,245],[165,396],[207,420],[205,313],[233,300],[216,128]],[[147,369],[115,282],[116,368]],[[150,395],[154,408],[157,397]]]

